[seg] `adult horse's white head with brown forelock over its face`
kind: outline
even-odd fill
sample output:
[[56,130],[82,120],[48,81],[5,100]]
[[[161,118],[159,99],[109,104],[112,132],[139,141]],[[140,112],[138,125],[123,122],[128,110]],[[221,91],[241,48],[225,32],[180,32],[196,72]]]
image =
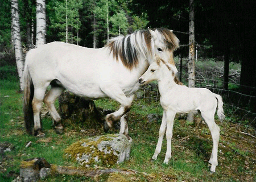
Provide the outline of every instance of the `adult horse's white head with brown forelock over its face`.
[[153,55],[160,57],[166,63],[174,64],[174,51],[179,47],[179,39],[166,28],[151,30],[151,48]]

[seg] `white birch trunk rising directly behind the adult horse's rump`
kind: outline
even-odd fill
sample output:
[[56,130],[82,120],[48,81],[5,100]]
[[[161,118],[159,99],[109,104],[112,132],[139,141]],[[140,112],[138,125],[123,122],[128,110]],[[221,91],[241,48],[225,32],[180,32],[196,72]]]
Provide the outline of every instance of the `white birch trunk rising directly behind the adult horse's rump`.
[[46,43],[46,0],[36,0],[36,47]]

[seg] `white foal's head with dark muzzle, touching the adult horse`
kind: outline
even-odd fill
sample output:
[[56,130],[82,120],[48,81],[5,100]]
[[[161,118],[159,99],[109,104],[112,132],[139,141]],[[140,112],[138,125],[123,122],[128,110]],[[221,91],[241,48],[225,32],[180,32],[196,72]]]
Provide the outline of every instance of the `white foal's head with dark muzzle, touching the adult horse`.
[[159,57],[156,58],[156,61],[150,64],[147,71],[139,78],[140,84],[147,84],[153,80],[163,80],[163,79],[172,79],[174,80],[177,73],[177,68],[175,65],[166,63]]

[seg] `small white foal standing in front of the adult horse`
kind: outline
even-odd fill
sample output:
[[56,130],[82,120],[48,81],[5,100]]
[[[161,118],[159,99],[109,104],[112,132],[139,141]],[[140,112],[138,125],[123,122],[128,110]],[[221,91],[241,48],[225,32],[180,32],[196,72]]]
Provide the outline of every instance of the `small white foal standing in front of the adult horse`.
[[163,135],[166,131],[167,151],[164,163],[171,158],[172,127],[176,113],[189,113],[197,110],[200,117],[209,127],[213,139],[212,155],[209,163],[212,164],[210,171],[215,172],[218,165],[217,152],[218,140],[220,138],[220,127],[214,122],[214,114],[218,106],[218,118],[222,121],[225,117],[222,98],[218,94],[210,92],[205,88],[188,88],[175,82],[176,69],[161,59],[153,62],[144,75],[139,78],[140,84],[147,84],[152,80],[158,80],[160,92],[160,104],[162,105],[163,119],[159,130],[158,144],[152,159],[156,159],[161,151]]

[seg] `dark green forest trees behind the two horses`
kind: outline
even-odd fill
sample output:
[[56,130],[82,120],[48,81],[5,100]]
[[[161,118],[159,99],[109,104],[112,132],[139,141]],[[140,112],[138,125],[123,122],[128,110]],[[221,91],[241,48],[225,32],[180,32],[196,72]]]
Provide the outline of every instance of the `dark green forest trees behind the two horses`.
[[[36,1],[19,0],[18,5],[22,44],[31,48],[36,39]],[[254,1],[195,0],[193,6],[199,55],[241,62],[240,92],[255,96]],[[188,55],[189,1],[47,0],[46,23],[46,43],[64,41],[94,48],[103,47],[115,35],[147,27],[166,27],[175,31],[183,45],[176,55]],[[11,1],[3,0],[0,52],[13,49],[11,39]]]

